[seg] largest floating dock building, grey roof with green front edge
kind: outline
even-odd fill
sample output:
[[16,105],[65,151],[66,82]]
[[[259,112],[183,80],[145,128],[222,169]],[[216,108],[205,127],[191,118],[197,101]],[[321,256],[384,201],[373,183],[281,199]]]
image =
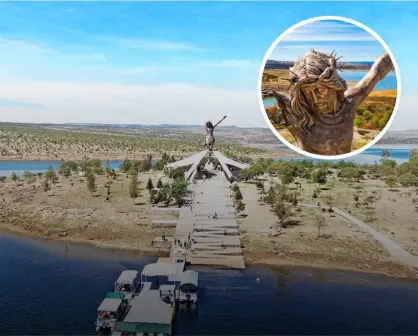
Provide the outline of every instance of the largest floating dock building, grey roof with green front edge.
[[122,322],[116,324],[115,336],[171,335],[174,303],[160,299],[160,292],[146,290],[135,296]]

